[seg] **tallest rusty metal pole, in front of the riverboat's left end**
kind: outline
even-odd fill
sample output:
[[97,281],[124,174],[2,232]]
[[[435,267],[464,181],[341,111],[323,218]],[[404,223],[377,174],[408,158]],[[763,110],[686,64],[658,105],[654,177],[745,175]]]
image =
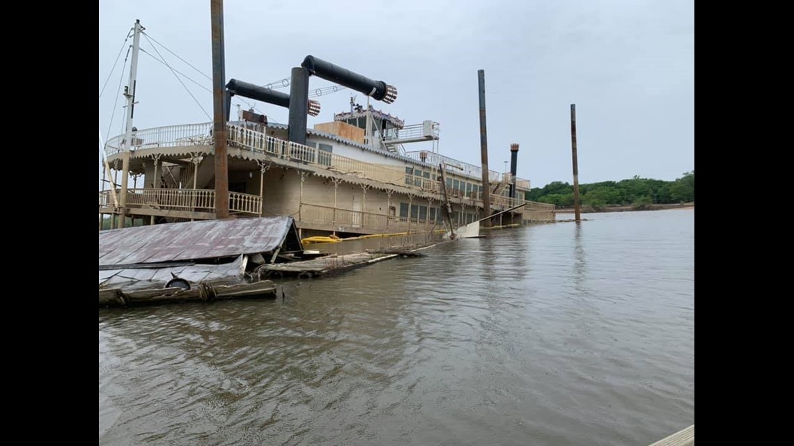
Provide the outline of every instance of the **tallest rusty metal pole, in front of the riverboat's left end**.
[[[223,0],[210,0],[212,21],[212,103],[215,139],[215,218],[229,218],[229,159],[226,151]],[[198,169],[197,169],[198,170]]]

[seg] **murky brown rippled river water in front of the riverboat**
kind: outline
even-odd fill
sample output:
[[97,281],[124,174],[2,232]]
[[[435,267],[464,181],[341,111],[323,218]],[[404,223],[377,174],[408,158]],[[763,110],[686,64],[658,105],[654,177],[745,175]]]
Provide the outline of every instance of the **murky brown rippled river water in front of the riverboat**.
[[[592,217],[591,217],[592,216]],[[694,420],[694,211],[99,316],[100,444],[649,444]]]

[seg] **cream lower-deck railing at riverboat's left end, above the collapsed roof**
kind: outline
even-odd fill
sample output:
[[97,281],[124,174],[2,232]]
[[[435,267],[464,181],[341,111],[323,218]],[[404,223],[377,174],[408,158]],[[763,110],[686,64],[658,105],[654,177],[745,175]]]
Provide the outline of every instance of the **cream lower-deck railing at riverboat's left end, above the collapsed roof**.
[[[116,191],[117,196],[121,190]],[[99,193],[99,206],[113,206],[110,190]],[[127,206],[157,210],[215,212],[215,191],[211,189],[128,189]],[[260,215],[262,198],[258,195],[229,192],[229,212]]]

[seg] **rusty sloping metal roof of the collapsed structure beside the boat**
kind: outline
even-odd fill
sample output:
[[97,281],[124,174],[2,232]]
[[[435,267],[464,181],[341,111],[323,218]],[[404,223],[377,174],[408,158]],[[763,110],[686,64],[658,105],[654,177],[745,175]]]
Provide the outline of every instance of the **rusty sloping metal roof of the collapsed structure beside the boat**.
[[202,260],[272,252],[295,228],[292,217],[235,218],[99,232],[99,265]]

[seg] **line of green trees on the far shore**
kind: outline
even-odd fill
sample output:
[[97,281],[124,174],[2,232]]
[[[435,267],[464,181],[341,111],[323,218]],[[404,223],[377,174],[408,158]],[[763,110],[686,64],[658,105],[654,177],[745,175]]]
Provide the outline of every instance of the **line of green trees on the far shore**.
[[[573,206],[573,186],[569,183],[554,181],[543,187],[529,190],[525,199],[533,202],[550,203],[557,208]],[[695,202],[695,171],[684,172],[681,178],[673,181],[640,178],[620,181],[602,181],[579,185],[579,201],[583,206],[603,210],[607,206],[631,206],[645,209],[654,204]]]

